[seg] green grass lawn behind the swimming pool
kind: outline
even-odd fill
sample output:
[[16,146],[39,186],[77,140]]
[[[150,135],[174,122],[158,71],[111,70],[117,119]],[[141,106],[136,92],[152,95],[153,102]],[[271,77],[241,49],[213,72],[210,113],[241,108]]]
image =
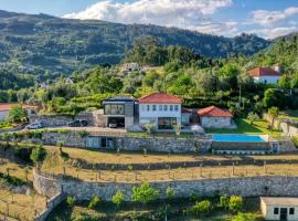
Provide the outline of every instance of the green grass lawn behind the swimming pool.
[[269,135],[273,137],[278,137],[281,131],[274,129],[273,133],[267,129],[268,123],[265,120],[257,120],[253,125],[248,119],[238,118],[235,119],[237,125],[236,129],[206,129],[207,134],[258,134],[258,135]]

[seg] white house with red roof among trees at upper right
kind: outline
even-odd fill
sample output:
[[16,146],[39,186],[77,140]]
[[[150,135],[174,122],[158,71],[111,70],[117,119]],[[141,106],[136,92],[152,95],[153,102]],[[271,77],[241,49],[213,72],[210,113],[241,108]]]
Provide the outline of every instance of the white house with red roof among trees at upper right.
[[254,78],[255,83],[276,84],[283,76],[281,69],[276,65],[270,67],[255,67],[248,71],[248,74]]

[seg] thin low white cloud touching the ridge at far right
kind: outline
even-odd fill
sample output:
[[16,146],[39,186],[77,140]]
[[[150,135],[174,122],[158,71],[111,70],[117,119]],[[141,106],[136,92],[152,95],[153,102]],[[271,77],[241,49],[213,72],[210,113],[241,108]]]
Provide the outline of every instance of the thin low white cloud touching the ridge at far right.
[[257,35],[262,35],[265,39],[275,39],[277,36],[286,35],[292,32],[298,31],[297,27],[278,27],[273,29],[254,29],[247,31],[247,33],[254,33]]

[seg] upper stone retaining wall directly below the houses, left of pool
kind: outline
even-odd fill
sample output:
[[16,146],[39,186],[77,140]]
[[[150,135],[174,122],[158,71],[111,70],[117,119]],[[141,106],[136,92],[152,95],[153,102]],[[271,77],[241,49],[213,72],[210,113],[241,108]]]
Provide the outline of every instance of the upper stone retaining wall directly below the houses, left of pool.
[[[87,147],[97,136],[82,137],[78,133],[44,133],[42,141],[45,145],[56,145],[62,141],[67,147]],[[206,152],[211,148],[211,139],[187,139],[187,138],[135,138],[135,137],[111,137],[113,144],[107,147],[100,146],[100,139],[106,137],[98,136],[98,149],[121,149],[142,151],[146,148],[148,151],[162,152]]]

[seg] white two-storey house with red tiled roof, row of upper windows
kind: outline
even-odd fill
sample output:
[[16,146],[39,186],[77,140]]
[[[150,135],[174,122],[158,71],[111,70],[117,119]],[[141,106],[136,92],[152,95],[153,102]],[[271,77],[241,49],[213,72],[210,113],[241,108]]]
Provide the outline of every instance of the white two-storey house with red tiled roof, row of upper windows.
[[139,124],[153,124],[156,129],[173,129],[181,125],[182,99],[166,93],[152,93],[139,98]]

